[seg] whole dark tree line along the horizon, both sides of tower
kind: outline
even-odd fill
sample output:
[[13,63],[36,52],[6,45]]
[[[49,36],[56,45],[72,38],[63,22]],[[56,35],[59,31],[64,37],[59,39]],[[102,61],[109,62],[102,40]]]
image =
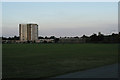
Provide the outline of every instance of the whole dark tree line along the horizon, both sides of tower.
[[[61,38],[61,37],[60,37]],[[38,39],[54,39],[57,43],[60,38],[56,38],[55,36],[51,37],[38,37]],[[68,37],[64,37],[68,38]],[[120,43],[120,32],[118,34],[112,33],[111,35],[104,35],[99,32],[98,34],[92,34],[91,36],[83,35],[82,37],[72,37],[72,38],[82,38],[85,40],[86,43]],[[18,36],[14,37],[2,37],[2,40],[19,40],[20,38]]]

